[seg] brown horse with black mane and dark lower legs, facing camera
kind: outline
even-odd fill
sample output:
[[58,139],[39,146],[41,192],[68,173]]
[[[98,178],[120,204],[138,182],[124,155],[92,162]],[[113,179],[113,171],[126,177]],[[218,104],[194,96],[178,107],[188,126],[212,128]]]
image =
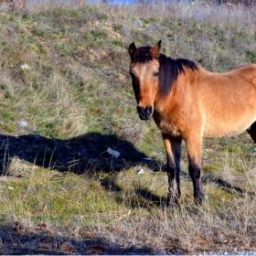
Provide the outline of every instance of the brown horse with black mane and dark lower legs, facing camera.
[[[247,130],[256,143],[256,64],[222,74],[190,59],[171,59],[154,48],[129,47],[130,73],[140,119],[152,117],[162,131],[167,155],[168,203],[180,196],[181,143],[185,141],[194,197],[202,203],[203,138]],[[176,180],[176,184],[175,184]]]

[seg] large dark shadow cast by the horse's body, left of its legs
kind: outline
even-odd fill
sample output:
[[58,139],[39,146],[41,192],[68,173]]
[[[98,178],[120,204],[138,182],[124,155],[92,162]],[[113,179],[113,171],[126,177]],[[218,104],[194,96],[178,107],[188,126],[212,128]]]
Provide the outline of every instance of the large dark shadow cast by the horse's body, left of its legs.
[[[115,158],[107,152],[112,148],[120,153]],[[34,165],[59,171],[84,172],[86,169],[121,170],[127,165],[141,163],[146,157],[132,143],[116,135],[86,133],[69,140],[27,134],[10,136],[0,134],[0,172],[8,175],[15,157]]]

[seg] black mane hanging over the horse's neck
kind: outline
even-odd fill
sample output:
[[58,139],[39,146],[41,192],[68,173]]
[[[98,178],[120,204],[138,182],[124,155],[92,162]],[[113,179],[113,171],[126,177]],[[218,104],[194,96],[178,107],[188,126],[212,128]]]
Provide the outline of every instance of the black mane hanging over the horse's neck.
[[193,71],[197,70],[198,64],[191,59],[171,59],[164,54],[159,55],[160,69],[160,93],[162,96],[167,96],[173,82],[177,79],[179,73],[185,73],[186,69]]

